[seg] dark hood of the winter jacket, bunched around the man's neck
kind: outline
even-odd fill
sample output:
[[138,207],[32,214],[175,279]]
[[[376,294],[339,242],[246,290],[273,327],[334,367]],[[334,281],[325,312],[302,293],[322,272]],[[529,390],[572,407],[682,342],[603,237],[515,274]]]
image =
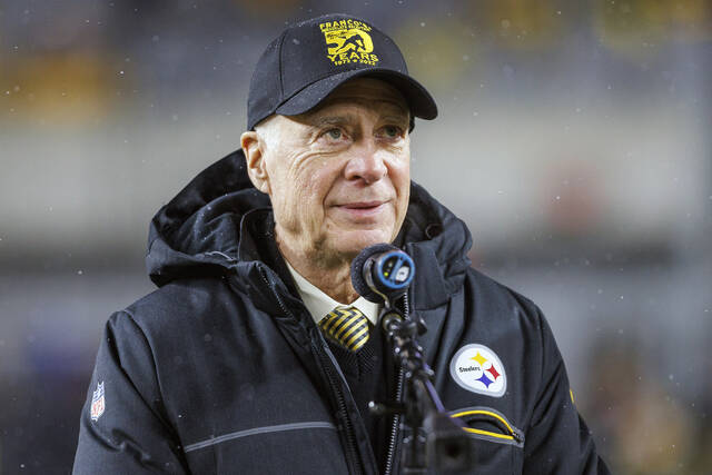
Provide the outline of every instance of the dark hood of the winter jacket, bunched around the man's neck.
[[[226,276],[240,264],[258,260],[245,218],[270,208],[269,197],[249,180],[241,150],[216,161],[154,216],[146,256],[150,279],[160,287],[180,278]],[[415,285],[423,287],[414,293],[422,296],[416,306],[417,300],[425,308],[438,305],[462,285],[469,267],[469,230],[413,181],[396,244],[427,269],[416,269]]]

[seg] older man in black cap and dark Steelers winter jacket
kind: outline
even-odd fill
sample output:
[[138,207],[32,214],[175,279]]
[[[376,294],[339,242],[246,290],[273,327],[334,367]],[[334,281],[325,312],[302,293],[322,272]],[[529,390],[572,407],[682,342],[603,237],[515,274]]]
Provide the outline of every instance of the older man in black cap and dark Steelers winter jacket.
[[111,316],[75,473],[399,473],[400,397],[378,306],[349,277],[365,247],[416,264],[434,385],[473,441],[472,473],[607,473],[553,335],[469,268],[465,225],[409,179],[414,116],[434,119],[395,43],[330,14],[260,58],[241,150],[151,222],[155,293]]

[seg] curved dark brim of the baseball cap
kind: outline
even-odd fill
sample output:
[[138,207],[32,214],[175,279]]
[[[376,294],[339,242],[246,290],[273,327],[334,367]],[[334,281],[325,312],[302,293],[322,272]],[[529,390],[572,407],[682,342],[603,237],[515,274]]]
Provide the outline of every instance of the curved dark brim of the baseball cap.
[[352,71],[339,72],[301,89],[283,102],[275,113],[281,116],[297,116],[309,111],[319,105],[326,97],[344,82],[367,76],[369,78],[382,79],[394,86],[408,102],[411,113],[421,119],[432,120],[437,117],[437,106],[431,93],[415,79],[393,69],[356,69]]

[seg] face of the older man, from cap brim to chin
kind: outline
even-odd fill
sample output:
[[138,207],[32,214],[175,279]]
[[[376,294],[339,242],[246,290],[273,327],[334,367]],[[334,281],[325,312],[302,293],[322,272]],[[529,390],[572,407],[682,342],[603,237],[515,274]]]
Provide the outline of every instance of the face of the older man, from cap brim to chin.
[[264,160],[280,246],[329,266],[395,239],[411,189],[409,116],[395,88],[354,79],[317,110],[269,120]]

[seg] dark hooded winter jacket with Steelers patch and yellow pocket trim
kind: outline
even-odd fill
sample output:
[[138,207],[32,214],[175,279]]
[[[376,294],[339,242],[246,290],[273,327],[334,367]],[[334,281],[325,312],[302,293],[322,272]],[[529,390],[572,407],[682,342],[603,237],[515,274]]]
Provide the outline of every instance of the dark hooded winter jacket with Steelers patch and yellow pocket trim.
[[[377,473],[322,331],[260,259],[270,219],[240,151],[156,215],[147,265],[160,288],[107,323],[76,474]],[[607,473],[546,320],[469,267],[465,225],[413,184],[399,239],[416,263],[411,309],[428,326],[435,387],[471,427],[472,473]]]

